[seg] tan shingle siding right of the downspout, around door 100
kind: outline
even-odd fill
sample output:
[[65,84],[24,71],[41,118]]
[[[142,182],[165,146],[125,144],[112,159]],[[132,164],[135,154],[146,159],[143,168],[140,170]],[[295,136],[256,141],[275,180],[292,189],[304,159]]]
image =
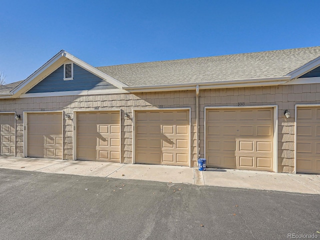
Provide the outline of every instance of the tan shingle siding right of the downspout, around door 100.
[[[320,83],[201,90],[199,94],[200,156],[204,154],[205,106],[278,106],[278,172],[294,171],[294,106],[320,103]],[[288,109],[290,118],[284,116]]]

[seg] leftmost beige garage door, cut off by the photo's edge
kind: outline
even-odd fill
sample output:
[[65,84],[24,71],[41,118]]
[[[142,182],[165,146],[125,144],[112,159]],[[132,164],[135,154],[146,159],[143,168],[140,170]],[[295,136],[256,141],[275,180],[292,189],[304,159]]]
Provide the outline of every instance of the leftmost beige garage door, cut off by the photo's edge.
[[14,156],[15,120],[14,113],[1,113],[1,155]]

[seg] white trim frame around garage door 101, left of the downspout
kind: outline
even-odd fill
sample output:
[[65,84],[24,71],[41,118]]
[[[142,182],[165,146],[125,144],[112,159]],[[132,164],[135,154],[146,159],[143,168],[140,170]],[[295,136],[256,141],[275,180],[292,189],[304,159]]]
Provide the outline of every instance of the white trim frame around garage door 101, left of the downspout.
[[188,110],[189,111],[189,162],[191,167],[191,107],[165,107],[165,108],[146,108],[136,107],[132,109],[132,163],[135,163],[135,112],[136,111],[167,111],[167,110]]

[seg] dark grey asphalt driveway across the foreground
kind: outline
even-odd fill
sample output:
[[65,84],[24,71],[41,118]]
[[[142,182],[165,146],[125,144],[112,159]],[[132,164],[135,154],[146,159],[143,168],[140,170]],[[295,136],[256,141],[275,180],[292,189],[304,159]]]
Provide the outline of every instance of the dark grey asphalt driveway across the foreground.
[[320,237],[319,194],[1,168],[0,202],[8,240]]

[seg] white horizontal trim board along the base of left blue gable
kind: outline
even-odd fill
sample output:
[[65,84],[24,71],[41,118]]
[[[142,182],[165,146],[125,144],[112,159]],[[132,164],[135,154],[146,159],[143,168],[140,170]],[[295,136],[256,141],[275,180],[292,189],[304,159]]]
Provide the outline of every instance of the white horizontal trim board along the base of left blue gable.
[[101,94],[117,94],[117,93],[129,93],[126,90],[104,89],[104,90],[80,90],[80,91],[55,91],[55,92],[38,92],[38,93],[24,93],[19,97],[45,97],[45,96],[73,96],[73,95],[101,95]]

